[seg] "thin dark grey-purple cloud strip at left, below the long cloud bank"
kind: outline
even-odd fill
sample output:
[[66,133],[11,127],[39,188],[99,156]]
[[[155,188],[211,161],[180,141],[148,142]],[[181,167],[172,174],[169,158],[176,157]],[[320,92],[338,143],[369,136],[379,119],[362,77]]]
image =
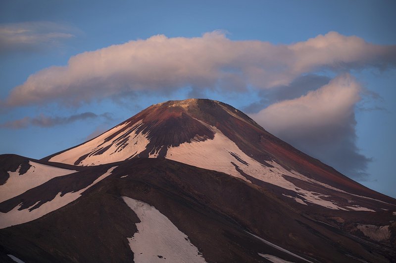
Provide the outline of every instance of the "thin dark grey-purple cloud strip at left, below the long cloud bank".
[[47,116],[44,114],[40,114],[37,117],[24,117],[22,119],[17,119],[13,121],[8,121],[0,124],[1,128],[10,128],[10,129],[22,129],[28,126],[39,126],[39,127],[52,127],[56,125],[68,124],[78,120],[85,119],[95,119],[98,117],[105,118],[106,120],[112,120],[111,113],[102,113],[97,115],[95,113],[87,112],[71,115],[68,117],[60,117],[60,116]]

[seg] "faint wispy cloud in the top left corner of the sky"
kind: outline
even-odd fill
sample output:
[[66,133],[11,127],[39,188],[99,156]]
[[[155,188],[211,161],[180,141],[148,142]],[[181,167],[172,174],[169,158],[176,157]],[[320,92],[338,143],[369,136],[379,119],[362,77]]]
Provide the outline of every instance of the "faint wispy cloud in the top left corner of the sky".
[[53,22],[25,22],[0,24],[0,54],[27,52],[57,46],[75,37],[76,30]]

